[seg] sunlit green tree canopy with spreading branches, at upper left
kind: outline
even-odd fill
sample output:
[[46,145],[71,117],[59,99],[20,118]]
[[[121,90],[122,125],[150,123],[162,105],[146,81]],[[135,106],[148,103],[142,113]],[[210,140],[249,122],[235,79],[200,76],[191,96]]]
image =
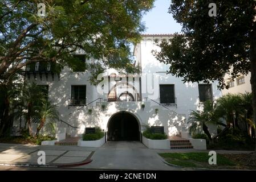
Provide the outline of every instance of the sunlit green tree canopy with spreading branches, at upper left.
[[[96,60],[87,67],[92,75],[109,67],[132,72],[129,45],[140,39],[141,17],[153,1],[2,0],[0,79],[38,61],[72,68],[77,51]],[[38,15],[39,3],[46,6],[45,16]]]

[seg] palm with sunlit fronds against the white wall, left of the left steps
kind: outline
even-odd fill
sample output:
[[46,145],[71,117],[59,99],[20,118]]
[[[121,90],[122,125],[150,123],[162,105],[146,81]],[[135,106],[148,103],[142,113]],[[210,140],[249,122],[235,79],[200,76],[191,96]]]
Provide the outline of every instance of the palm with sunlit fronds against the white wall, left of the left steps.
[[56,106],[52,105],[51,101],[44,99],[42,104],[43,105],[39,111],[40,124],[36,129],[36,137],[38,137],[40,130],[43,128],[47,120],[50,122],[59,120],[59,113],[56,110]]

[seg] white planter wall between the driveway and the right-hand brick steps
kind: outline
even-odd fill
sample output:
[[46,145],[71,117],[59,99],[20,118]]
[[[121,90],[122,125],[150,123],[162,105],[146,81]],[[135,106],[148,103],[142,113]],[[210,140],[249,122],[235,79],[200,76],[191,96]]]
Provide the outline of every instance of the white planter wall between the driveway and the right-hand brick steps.
[[170,140],[152,140],[142,136],[142,142],[151,149],[170,149]]

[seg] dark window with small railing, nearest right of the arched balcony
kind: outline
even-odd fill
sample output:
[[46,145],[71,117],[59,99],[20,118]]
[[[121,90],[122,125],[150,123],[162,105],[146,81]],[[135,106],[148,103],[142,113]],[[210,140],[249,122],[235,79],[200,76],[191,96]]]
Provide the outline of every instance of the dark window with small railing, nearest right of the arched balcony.
[[175,94],[174,85],[160,85],[160,104],[174,105]]

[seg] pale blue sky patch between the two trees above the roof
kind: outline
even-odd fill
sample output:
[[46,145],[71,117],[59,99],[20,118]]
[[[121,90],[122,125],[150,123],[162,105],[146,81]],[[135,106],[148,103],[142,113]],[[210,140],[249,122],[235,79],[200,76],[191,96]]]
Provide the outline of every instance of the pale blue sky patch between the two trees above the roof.
[[143,34],[173,34],[181,31],[179,23],[168,13],[171,0],[156,0],[154,8],[143,16],[147,27]]

